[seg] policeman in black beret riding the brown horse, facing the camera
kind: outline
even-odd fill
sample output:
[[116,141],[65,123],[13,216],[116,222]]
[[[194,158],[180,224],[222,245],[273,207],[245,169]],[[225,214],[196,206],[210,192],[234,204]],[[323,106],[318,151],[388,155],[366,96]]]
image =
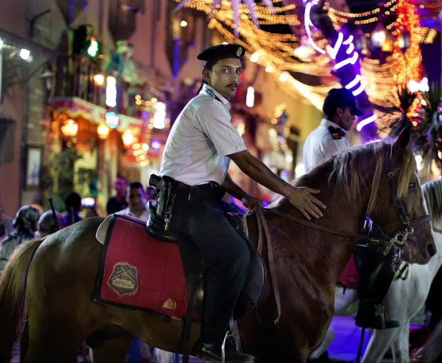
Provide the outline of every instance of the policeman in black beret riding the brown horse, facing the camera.
[[[257,183],[288,198],[307,219],[320,218],[325,205],[313,194],[273,174],[252,156],[230,123],[229,100],[241,80],[242,46],[213,46],[198,55],[205,61],[203,84],[178,115],[172,127],[160,169],[156,214],[165,229],[183,241],[192,241],[210,268],[205,272],[205,304],[198,346],[205,360],[221,362],[221,342],[228,330],[238,297],[248,277],[250,252],[243,236],[225,217],[225,192],[249,207],[261,200],[247,194],[228,174],[233,160]],[[228,210],[229,208],[227,208]],[[228,362],[249,362],[252,357],[226,348]]]

